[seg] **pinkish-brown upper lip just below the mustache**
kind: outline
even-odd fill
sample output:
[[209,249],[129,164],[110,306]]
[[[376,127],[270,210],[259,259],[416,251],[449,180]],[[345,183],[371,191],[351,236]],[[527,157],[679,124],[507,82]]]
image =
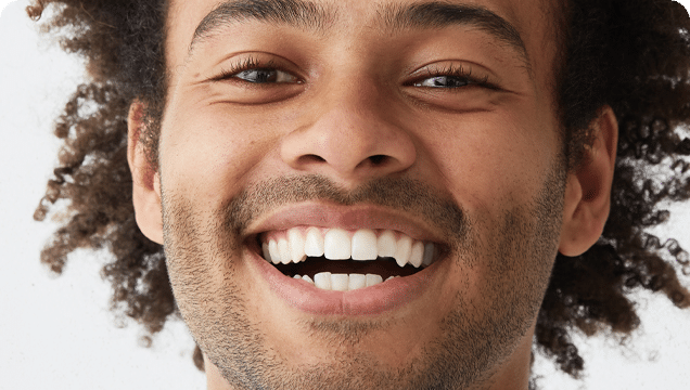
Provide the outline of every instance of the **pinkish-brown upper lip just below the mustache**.
[[423,242],[443,243],[442,234],[419,217],[375,205],[340,206],[309,202],[281,207],[263,216],[246,230],[246,236],[295,226],[340,227],[344,230],[393,230]]

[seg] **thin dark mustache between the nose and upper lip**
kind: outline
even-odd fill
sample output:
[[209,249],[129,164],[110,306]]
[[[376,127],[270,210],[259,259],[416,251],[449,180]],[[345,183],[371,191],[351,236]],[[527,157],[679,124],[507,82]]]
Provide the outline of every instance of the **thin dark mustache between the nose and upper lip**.
[[240,235],[247,225],[274,208],[308,200],[342,206],[368,204],[406,211],[426,220],[458,242],[465,236],[468,213],[449,195],[409,178],[380,178],[345,190],[320,174],[276,178],[243,190],[223,207],[226,227]]

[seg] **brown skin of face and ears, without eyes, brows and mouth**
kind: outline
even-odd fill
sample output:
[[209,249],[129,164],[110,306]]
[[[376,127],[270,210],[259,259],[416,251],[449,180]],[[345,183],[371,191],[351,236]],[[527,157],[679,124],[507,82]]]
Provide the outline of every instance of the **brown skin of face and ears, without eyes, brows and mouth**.
[[[587,164],[565,174],[550,88],[555,43],[541,2],[473,2],[516,27],[532,74],[514,50],[476,28],[384,30],[376,4],[389,3],[410,2],[337,2],[338,16],[318,34],[233,24],[188,57],[194,29],[216,1],[173,1],[161,171],[148,166],[138,143],[137,103],[128,159],[137,222],[165,244],[209,389],[419,389],[438,388],[436,379],[447,388],[526,389],[534,324],[557,252],[579,255],[601,235],[617,123],[602,109]],[[304,82],[210,81],[247,53]],[[406,83],[429,66],[450,64],[471,67],[500,90]],[[374,155],[386,157],[373,164]],[[414,180],[427,195],[411,211],[367,196],[357,207],[404,217],[451,248],[439,264],[443,277],[407,306],[368,317],[320,317],[272,296],[243,243],[278,211],[240,203],[255,212],[232,221],[242,226],[235,232],[226,227],[226,207],[268,180],[314,174],[344,195]],[[435,200],[462,210],[462,234],[429,219]],[[280,205],[294,206],[288,198]]]

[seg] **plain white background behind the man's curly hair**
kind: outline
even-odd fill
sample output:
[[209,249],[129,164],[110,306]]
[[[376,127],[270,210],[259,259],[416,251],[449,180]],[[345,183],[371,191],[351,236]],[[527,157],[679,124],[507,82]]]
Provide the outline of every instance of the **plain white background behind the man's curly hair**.
[[[17,0],[0,17],[0,388],[204,389],[183,324],[169,323],[150,349],[138,344],[138,325],[116,327],[110,285],[99,276],[102,256],[76,253],[60,277],[39,263],[55,227],[31,219],[56,162],[51,126],[82,67],[39,40],[26,5]],[[672,210],[670,227],[660,232],[690,248],[690,205]],[[690,311],[649,295],[640,304],[642,326],[627,348],[604,338],[579,343],[583,382],[538,359],[542,388],[690,389]]]

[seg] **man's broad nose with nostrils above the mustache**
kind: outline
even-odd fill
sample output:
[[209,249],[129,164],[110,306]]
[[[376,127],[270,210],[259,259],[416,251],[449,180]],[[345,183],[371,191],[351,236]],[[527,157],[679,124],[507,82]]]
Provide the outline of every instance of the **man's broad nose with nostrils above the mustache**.
[[333,82],[311,101],[302,126],[281,145],[281,158],[293,169],[354,185],[414,164],[411,134],[373,82]]

